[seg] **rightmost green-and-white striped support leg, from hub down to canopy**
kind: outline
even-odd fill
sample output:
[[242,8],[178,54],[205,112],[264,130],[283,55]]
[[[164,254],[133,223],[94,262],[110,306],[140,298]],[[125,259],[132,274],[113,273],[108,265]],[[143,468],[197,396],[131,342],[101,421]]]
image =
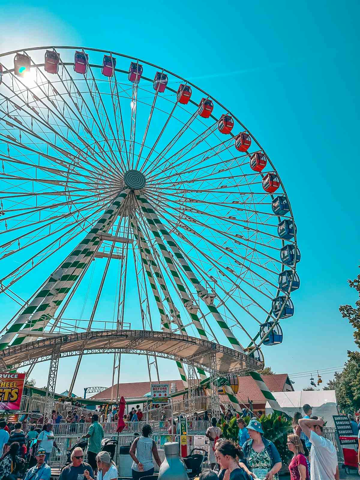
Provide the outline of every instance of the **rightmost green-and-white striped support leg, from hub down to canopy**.
[[[162,224],[160,219],[156,216],[156,213],[155,213],[153,207],[148,203],[148,201],[146,200],[146,198],[144,196],[137,195],[136,198],[138,199],[138,201],[140,202],[140,204],[142,206],[142,210],[144,212],[145,218],[150,225],[150,228],[151,228],[151,230],[152,230],[152,232],[153,232],[153,234],[156,238],[156,241],[158,243],[159,243],[159,241],[162,242],[163,247],[161,247],[161,245],[159,243],[161,252],[164,254],[164,251],[166,250],[166,247],[165,247],[165,244],[163,243],[163,241],[161,239],[160,233],[164,237],[164,239],[167,241],[168,246],[174,252],[175,257],[178,259],[179,263],[181,264],[186,276],[189,278],[189,280],[192,282],[192,284],[196,288],[196,291],[198,292],[199,297],[202,300],[204,300],[207,308],[209,309],[209,311],[214,316],[217,324],[220,326],[221,330],[224,332],[225,336],[228,338],[228,341],[230,342],[231,347],[234,348],[234,350],[236,350],[238,352],[244,353],[244,350],[243,350],[242,346],[240,345],[237,338],[234,336],[234,334],[229,329],[227,323],[222,318],[220,312],[217,310],[217,308],[214,305],[210,304],[210,298],[209,298],[207,290],[200,284],[199,280],[196,278],[196,275],[194,274],[194,272],[190,268],[189,264],[184,259],[184,257],[182,255],[182,253],[180,252],[177,244],[172,239],[172,237],[170,236],[170,234],[168,233],[168,231],[166,230],[166,228],[164,227],[164,225]],[[171,264],[173,264],[173,262],[171,260],[171,257],[169,255],[168,255],[168,258],[170,259]],[[168,262],[167,258],[166,258],[166,261],[169,265],[169,262]],[[177,273],[176,273],[176,275],[179,278]],[[175,278],[175,281],[176,281],[176,278]]]

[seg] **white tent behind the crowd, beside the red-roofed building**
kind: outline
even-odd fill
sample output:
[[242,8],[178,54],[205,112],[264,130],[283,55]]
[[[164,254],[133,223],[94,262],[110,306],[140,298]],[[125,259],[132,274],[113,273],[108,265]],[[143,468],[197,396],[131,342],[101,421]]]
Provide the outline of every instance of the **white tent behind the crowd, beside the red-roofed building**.
[[[324,417],[327,422],[327,427],[335,427],[333,415],[338,415],[335,390],[315,390],[300,392],[271,392],[280,407],[284,412],[288,413],[290,417],[294,416],[295,412],[300,412],[301,415],[305,415],[302,407],[305,403],[312,406],[312,415],[318,417]],[[273,409],[269,403],[266,402],[266,413],[272,413]]]

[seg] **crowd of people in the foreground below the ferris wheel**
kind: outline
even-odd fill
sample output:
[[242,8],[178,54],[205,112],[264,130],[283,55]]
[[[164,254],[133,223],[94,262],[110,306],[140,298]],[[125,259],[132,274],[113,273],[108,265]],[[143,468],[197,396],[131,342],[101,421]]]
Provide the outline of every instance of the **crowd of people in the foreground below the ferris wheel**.
[[[332,442],[324,437],[324,420],[312,416],[309,405],[304,405],[303,410],[303,417],[300,412],[294,415],[293,432],[289,433],[287,438],[288,450],[293,454],[288,465],[291,480],[339,480],[336,449]],[[53,411],[52,417],[56,420],[54,413],[56,415]],[[245,411],[237,418],[238,444],[224,439],[221,428],[217,426],[217,419],[211,418],[210,426],[206,430],[211,471],[206,472],[204,479],[210,480],[214,477],[218,480],[278,480],[282,460],[275,444],[264,437],[260,420],[262,412],[252,414],[251,420],[245,424],[248,413]],[[115,412],[111,411],[111,414],[114,416]],[[142,419],[143,413],[139,406],[126,416],[127,421]],[[83,435],[84,439],[88,439],[88,463],[84,462],[83,449],[79,446],[74,448],[71,463],[62,468],[60,480],[117,480],[118,470],[115,463],[107,451],[101,450],[104,438],[102,412],[94,413],[90,420],[88,432]],[[198,415],[195,420],[199,420]],[[24,480],[49,480],[51,469],[48,459],[54,447],[59,450],[52,431],[53,423],[45,423],[42,429],[36,428],[35,424],[29,424],[26,431],[20,421],[12,427],[9,428],[5,420],[0,420],[0,451],[3,452],[0,457],[0,480],[18,478],[17,472],[24,467],[24,456],[30,445],[35,452],[35,465],[30,465]],[[174,430],[172,432],[175,433]],[[153,475],[154,459],[159,466],[161,464],[156,442],[151,437],[151,426],[143,424],[141,435],[136,434],[132,442],[129,453],[133,460],[131,469],[134,480]],[[215,472],[216,469],[218,473]]]

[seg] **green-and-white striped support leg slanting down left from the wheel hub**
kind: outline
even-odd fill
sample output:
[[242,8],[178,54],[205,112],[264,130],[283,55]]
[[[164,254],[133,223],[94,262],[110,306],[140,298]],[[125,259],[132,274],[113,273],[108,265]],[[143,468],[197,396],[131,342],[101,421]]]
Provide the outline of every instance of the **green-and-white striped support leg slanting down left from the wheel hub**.
[[[118,195],[114,203],[97,221],[95,227],[85,236],[84,240],[75,248],[75,250],[65,259],[59,268],[48,278],[47,283],[37,293],[36,297],[24,309],[19,317],[12,323],[9,330],[0,338],[0,350],[6,348],[16,334],[26,325],[30,329],[36,330],[36,323],[42,319],[45,323],[51,318],[50,312],[55,312],[63,298],[67,295],[70,288],[83,271],[88,263],[96,245],[100,241],[96,234],[108,228],[111,221],[114,221],[120,211],[121,205],[129,193],[129,189],[124,190]],[[76,273],[75,273],[76,272]],[[79,273],[78,273],[79,272]],[[55,300],[55,299],[56,300]],[[34,316],[36,315],[36,316]],[[50,316],[48,316],[50,315]],[[30,318],[31,317],[31,318]],[[26,336],[19,336],[13,342],[14,345],[23,343]],[[31,340],[31,339],[30,339]]]

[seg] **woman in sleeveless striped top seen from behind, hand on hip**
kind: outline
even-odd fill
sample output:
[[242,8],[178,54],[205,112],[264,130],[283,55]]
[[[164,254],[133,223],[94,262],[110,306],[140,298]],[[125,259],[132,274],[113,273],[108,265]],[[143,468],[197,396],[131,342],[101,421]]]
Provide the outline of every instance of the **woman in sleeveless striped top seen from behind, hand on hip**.
[[142,435],[136,437],[130,448],[132,462],[132,478],[138,480],[141,477],[147,477],[154,473],[154,460],[160,467],[161,460],[157,452],[156,443],[151,438],[153,431],[147,423],[143,426]]

